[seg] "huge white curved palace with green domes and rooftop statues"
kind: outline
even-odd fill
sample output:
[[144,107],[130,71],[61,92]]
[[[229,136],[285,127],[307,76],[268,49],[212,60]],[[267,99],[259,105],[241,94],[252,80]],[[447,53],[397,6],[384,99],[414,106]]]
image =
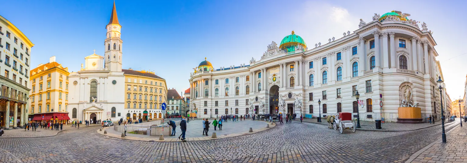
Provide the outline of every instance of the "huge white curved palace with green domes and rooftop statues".
[[353,33],[314,47],[292,31],[249,65],[215,69],[205,58],[191,73],[190,110],[202,118],[350,112],[360,120],[394,122],[400,108],[413,107],[420,108],[417,120],[430,114],[440,120],[436,42],[425,22],[420,27],[407,15],[375,14]]

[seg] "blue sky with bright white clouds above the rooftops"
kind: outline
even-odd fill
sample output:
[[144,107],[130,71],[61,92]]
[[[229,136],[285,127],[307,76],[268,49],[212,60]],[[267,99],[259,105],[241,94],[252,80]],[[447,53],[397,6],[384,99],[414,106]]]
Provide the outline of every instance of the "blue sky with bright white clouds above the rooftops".
[[[123,40],[123,68],[156,71],[168,87],[189,87],[192,68],[207,57],[214,68],[257,60],[271,41],[295,30],[309,47],[358,29],[359,19],[391,10],[425,21],[438,43],[445,83],[451,99],[464,95],[467,60],[462,34],[465,1],[123,1],[116,7]],[[57,62],[78,71],[84,57],[103,55],[106,25],[113,0],[14,0],[0,15],[35,43],[31,66]],[[459,57],[456,57],[459,56]]]

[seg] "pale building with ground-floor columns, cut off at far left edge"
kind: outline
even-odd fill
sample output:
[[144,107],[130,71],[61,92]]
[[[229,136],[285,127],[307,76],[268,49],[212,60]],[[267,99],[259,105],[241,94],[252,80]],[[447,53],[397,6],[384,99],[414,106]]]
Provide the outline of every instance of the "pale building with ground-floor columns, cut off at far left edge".
[[33,46],[20,29],[0,16],[0,128],[21,128],[27,121]]

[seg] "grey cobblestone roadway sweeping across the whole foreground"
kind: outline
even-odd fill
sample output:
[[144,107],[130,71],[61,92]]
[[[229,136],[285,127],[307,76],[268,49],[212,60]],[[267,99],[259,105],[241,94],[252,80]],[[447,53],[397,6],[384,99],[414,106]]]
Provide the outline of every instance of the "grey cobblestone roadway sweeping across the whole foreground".
[[[446,125],[446,130],[455,125]],[[314,123],[278,124],[252,135],[195,142],[142,142],[99,135],[98,127],[54,137],[0,139],[2,163],[404,162],[440,137],[440,126],[415,131],[344,134]]]

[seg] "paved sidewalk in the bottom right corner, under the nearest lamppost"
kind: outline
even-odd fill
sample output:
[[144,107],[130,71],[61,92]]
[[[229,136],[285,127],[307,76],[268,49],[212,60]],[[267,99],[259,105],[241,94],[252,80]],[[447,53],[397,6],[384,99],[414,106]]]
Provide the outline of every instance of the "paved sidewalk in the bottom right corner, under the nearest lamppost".
[[410,156],[406,163],[467,163],[467,126],[446,133],[446,143],[441,139]]

